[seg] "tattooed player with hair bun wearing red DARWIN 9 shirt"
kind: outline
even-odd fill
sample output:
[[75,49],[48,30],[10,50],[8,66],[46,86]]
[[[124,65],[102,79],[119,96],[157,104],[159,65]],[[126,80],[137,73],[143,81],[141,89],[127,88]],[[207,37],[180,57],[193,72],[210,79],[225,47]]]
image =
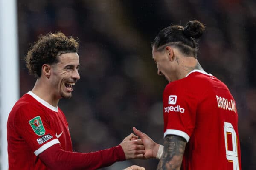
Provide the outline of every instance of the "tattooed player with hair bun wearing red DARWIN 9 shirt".
[[[185,27],[164,28],[152,43],[157,74],[169,82],[163,91],[164,146],[158,149],[157,170],[241,170],[235,100],[197,60],[204,31],[204,24],[192,20]],[[146,137],[135,128],[134,133]]]

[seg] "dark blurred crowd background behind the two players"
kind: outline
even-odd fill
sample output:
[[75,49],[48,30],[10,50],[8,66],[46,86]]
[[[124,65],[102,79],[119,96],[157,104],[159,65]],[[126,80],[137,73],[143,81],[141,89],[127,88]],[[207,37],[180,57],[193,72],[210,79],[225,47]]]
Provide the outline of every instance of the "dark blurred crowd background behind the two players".
[[[69,122],[73,150],[91,152],[118,145],[142,130],[163,144],[162,93],[151,42],[170,24],[197,19],[206,24],[198,60],[233,94],[239,113],[242,168],[256,169],[255,0],[18,0],[20,96],[35,77],[23,58],[40,34],[61,31],[80,41],[80,76],[71,99],[59,107]],[[203,160],[202,160],[203,161]],[[154,170],[158,160],[129,160]]]

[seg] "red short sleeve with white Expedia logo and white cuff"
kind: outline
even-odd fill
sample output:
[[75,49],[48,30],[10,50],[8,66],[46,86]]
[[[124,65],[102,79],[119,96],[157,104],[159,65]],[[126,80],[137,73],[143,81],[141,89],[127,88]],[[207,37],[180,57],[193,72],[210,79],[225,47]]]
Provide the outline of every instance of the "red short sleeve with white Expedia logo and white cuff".
[[163,92],[164,138],[181,136],[189,141],[195,128],[197,98],[182,86],[169,83]]

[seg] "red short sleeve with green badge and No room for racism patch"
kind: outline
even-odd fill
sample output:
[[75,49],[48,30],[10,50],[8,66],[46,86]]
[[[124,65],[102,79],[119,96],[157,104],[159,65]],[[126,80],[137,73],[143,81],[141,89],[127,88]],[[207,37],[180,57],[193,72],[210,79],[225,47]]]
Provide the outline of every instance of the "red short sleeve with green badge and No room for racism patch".
[[29,103],[20,106],[14,119],[15,130],[38,156],[47,148],[60,143],[50,127],[44,109]]

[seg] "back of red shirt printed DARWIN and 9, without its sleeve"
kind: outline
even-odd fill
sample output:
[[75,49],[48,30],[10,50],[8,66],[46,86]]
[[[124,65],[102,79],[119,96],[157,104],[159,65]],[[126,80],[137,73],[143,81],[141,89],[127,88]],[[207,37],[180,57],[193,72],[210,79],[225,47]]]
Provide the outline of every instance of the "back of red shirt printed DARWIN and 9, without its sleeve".
[[238,115],[227,86],[210,74],[187,76],[184,89],[197,98],[195,127],[184,153],[184,170],[241,170]]

